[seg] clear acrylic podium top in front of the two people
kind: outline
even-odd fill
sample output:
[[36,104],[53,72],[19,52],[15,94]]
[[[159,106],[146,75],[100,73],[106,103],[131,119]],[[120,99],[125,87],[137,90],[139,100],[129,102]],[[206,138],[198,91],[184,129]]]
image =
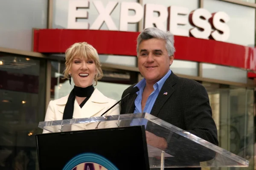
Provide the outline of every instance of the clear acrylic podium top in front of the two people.
[[248,160],[148,113],[39,122],[38,127],[44,129],[43,133],[55,133],[138,125],[145,125],[145,131],[167,142],[165,148],[147,144],[150,168],[249,166]]

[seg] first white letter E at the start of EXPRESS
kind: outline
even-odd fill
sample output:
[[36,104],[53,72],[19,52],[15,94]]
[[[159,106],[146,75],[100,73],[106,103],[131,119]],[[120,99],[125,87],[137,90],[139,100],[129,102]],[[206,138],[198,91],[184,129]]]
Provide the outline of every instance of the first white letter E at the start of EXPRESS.
[[78,8],[89,8],[88,0],[72,0],[68,5],[67,28],[68,29],[89,29],[89,23],[77,22],[78,18],[87,19],[88,12],[77,10]]

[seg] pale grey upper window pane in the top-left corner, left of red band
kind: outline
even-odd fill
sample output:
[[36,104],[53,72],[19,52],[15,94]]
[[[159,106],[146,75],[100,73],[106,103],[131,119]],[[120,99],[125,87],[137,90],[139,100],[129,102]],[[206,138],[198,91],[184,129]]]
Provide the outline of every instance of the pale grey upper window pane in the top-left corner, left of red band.
[[3,0],[0,47],[31,51],[32,29],[47,28],[48,0]]

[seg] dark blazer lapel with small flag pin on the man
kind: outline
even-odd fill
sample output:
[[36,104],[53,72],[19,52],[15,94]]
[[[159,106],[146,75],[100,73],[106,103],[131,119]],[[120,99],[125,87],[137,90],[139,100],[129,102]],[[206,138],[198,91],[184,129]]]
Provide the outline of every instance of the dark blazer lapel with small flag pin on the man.
[[160,90],[160,93],[157,96],[156,101],[154,102],[154,106],[151,110],[151,115],[158,116],[158,113],[160,112],[161,108],[169,99],[170,96],[172,96],[172,93],[175,91],[175,89],[172,87],[177,83],[178,77],[172,72],[172,74],[166,79],[166,82],[163,84],[163,87]]

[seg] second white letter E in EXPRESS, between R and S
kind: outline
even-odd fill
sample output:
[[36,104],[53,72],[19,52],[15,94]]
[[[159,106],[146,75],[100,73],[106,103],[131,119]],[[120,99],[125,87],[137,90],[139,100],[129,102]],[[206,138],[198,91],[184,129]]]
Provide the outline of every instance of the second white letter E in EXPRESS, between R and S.
[[172,34],[180,36],[189,36],[189,32],[183,29],[181,26],[187,25],[189,9],[180,6],[168,7],[169,20],[167,21],[167,30],[170,30]]

